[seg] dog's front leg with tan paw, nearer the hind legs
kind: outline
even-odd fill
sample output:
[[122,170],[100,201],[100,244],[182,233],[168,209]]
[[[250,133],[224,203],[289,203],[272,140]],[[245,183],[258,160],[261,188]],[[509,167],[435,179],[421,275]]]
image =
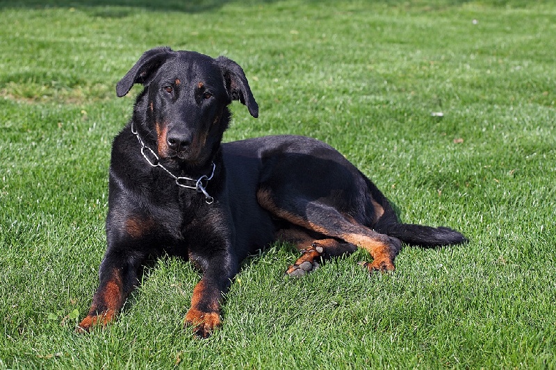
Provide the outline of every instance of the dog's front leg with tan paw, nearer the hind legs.
[[[193,327],[195,335],[210,337],[220,326],[220,304],[222,294],[231,285],[231,279],[238,273],[237,259],[229,253],[215,253],[210,260],[201,264],[203,276],[195,285],[191,297],[191,308],[183,320],[185,326]],[[199,259],[195,259],[199,262]],[[198,263],[197,263],[198,264]]]

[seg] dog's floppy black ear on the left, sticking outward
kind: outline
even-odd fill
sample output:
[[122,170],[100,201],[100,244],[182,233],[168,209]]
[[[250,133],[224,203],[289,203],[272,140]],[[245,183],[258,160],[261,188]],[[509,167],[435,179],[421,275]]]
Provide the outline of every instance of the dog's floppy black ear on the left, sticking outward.
[[131,90],[135,83],[148,83],[154,72],[163,65],[166,59],[173,53],[169,47],[156,47],[145,51],[136,64],[129,69],[124,78],[116,85],[116,94],[119,98]]

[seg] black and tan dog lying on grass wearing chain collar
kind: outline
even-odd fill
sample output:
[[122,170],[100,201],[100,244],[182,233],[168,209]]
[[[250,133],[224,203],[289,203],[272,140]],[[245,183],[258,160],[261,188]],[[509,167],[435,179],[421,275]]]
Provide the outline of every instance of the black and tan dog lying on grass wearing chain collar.
[[228,58],[158,47],[117,83],[117,96],[138,83],[144,88],[131,120],[112,146],[99,287],[77,331],[112,321],[140,268],[163,253],[202,272],[184,324],[206,338],[221,324],[222,296],[240,262],[277,240],[301,252],[286,270],[291,276],[357,248],[373,258],[364,268],[393,271],[402,242],[467,241],[450,228],[400,223],[382,192],[318,140],[281,135],[222,144],[232,101],[259,115],[243,69]]

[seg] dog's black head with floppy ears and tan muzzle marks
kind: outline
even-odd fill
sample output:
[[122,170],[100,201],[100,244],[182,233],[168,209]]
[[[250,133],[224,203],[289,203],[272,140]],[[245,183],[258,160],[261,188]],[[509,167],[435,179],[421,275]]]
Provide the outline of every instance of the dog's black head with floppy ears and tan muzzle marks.
[[145,52],[117,83],[117,96],[145,86],[134,117],[156,137],[161,158],[202,165],[220,144],[229,123],[227,106],[238,100],[253,117],[259,106],[243,69],[228,58],[160,47]]

